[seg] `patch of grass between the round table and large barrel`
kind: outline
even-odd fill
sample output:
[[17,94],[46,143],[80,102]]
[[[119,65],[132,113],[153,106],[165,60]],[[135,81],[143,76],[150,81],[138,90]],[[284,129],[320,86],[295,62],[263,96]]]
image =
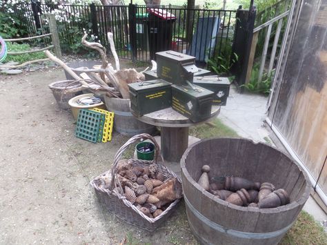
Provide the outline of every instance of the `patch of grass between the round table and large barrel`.
[[226,126],[220,119],[214,119],[207,124],[190,127],[190,135],[199,139],[213,137],[238,137],[235,130]]

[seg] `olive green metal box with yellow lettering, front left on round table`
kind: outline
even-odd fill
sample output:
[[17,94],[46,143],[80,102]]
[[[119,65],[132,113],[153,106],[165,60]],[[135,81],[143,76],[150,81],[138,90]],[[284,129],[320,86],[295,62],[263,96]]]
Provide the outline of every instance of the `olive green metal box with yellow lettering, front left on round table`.
[[171,106],[171,84],[163,79],[128,84],[130,109],[141,117]]

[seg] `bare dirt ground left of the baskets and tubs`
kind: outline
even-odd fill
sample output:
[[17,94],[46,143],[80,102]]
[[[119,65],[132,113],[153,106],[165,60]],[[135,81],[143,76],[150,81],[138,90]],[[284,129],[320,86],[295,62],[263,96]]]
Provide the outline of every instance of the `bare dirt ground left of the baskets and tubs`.
[[110,168],[128,139],[92,144],[74,135],[48,84],[60,69],[0,75],[0,244],[196,244],[184,203],[153,233],[117,219],[90,180]]

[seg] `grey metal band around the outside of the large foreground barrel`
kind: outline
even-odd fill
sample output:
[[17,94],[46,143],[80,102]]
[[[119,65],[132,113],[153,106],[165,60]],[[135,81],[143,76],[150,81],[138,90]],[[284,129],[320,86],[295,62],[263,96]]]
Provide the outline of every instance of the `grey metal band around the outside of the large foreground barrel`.
[[207,217],[205,217],[204,215],[202,215],[201,213],[199,213],[198,210],[196,210],[192,204],[190,204],[190,202],[188,201],[188,199],[186,198],[186,196],[184,195],[184,200],[186,202],[186,205],[188,206],[188,208],[190,209],[190,211],[198,218],[200,219],[202,222],[204,222],[204,224],[206,224],[207,226],[210,226],[212,229],[221,232],[221,233],[226,233],[227,235],[233,236],[233,237],[240,237],[240,238],[246,238],[246,239],[269,239],[269,238],[273,238],[273,237],[278,237],[279,235],[283,235],[284,233],[286,233],[286,231],[288,231],[288,229],[290,227],[293,226],[292,222],[291,224],[289,224],[288,226],[278,230],[278,231],[273,231],[270,233],[248,233],[248,232],[244,232],[244,231],[236,231],[236,230],[232,230],[232,229],[228,229],[228,228],[224,228],[224,226],[220,226],[219,224],[216,224],[215,222],[212,222],[210,219],[208,219]]

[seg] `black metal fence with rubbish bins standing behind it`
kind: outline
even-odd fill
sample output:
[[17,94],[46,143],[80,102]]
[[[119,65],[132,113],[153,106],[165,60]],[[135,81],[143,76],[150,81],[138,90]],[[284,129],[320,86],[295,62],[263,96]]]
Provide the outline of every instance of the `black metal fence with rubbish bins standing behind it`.
[[[63,51],[78,52],[83,32],[108,47],[112,32],[119,57],[154,59],[161,50],[177,50],[206,62],[231,52],[236,10],[200,10],[177,6],[97,6],[19,3],[15,17],[28,35],[48,28],[46,13],[54,13]],[[109,50],[109,49],[108,49]]]

